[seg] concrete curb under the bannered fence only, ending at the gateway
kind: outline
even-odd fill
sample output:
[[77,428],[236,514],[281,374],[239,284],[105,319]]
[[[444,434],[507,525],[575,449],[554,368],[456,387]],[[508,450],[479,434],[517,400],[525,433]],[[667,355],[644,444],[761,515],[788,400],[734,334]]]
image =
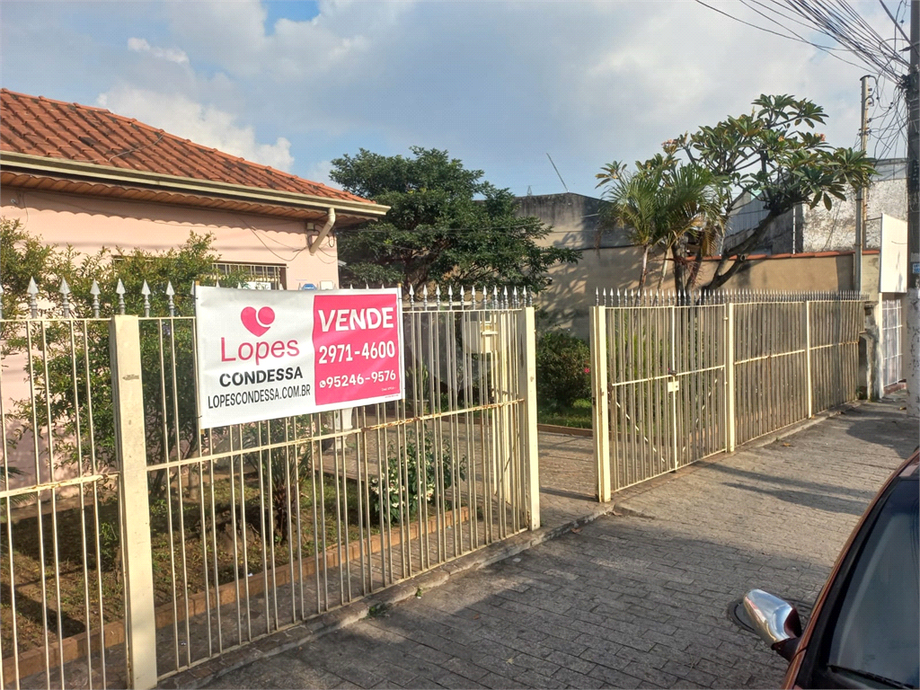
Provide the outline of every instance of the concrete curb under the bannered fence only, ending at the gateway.
[[407,581],[400,582],[364,597],[360,601],[346,604],[327,614],[319,615],[301,624],[273,633],[244,647],[236,648],[222,657],[216,657],[193,666],[186,671],[169,676],[158,688],[198,688],[211,683],[222,675],[236,671],[253,661],[268,659],[285,651],[310,644],[342,627],[351,626],[375,612],[389,608],[435,587],[440,587],[452,577],[485,568],[505,558],[511,558],[529,548],[543,544],[550,539],[564,535],[579,525],[592,523],[604,515],[614,512],[611,503],[597,504],[597,508],[586,515],[553,527],[541,527],[534,532],[522,532],[496,544],[480,548],[466,556],[456,558],[443,566],[420,573]]

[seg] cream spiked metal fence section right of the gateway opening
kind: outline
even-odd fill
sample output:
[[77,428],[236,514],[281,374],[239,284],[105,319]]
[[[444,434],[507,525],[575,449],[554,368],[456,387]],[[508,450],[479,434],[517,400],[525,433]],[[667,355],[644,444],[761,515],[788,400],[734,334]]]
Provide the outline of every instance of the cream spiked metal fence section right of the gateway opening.
[[592,307],[597,495],[857,397],[857,293],[604,293]]

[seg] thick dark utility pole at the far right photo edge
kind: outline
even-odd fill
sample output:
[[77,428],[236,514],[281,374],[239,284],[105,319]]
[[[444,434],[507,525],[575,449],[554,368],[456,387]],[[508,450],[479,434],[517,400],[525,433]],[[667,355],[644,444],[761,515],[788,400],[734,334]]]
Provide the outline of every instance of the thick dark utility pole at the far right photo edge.
[[911,0],[907,97],[907,410],[920,415],[920,0]]

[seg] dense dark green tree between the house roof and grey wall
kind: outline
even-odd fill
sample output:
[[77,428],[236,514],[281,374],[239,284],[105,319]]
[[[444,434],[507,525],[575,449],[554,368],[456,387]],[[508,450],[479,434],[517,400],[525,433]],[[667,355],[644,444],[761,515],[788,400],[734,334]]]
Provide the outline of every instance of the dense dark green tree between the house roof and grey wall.
[[535,292],[546,270],[577,261],[572,249],[540,247],[549,228],[519,218],[509,190],[467,170],[446,151],[413,147],[412,157],[361,149],[332,161],[329,177],[345,190],[390,207],[376,223],[342,233],[342,282],[507,284]]

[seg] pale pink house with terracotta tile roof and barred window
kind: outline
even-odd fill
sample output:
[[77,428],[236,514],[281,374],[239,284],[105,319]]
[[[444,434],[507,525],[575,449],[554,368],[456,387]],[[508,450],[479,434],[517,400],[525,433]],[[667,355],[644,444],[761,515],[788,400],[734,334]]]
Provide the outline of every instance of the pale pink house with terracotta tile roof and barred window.
[[162,250],[209,232],[218,272],[338,287],[337,231],[386,211],[106,109],[0,89],[0,216],[52,244]]

